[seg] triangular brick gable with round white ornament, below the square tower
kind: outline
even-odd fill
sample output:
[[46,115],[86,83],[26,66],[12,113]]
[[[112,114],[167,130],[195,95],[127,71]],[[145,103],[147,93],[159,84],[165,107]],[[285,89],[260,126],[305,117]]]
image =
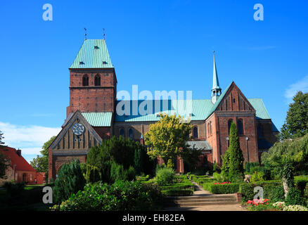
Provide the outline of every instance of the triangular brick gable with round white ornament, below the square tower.
[[77,111],[65,124],[49,148],[53,150],[89,150],[101,144],[93,127],[86,121],[82,113]]

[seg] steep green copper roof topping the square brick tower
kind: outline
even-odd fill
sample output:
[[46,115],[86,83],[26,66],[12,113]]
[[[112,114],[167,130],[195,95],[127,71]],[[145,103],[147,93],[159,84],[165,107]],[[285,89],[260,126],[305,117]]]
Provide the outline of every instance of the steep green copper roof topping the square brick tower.
[[104,39],[86,39],[80,48],[72,68],[113,68]]

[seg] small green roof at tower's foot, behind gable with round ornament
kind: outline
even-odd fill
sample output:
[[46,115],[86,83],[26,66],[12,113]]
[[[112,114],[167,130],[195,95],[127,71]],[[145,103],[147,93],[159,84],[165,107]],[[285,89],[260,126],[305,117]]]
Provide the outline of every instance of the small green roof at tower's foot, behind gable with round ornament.
[[113,113],[82,113],[82,116],[93,127],[110,127]]

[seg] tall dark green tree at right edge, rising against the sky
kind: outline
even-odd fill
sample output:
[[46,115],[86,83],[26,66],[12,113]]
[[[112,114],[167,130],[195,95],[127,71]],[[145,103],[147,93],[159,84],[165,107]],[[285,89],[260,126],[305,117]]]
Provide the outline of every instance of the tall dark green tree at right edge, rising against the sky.
[[296,139],[308,134],[308,93],[298,91],[290,103],[285,123],[281,127],[278,137],[282,139]]

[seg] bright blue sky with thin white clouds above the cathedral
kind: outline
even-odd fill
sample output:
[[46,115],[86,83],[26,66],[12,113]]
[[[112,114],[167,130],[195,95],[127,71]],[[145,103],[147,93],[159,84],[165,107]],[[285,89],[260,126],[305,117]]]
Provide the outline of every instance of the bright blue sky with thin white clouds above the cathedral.
[[[264,20],[255,21],[255,4]],[[44,4],[53,20],[44,21]],[[58,134],[69,70],[84,40],[105,39],[117,90],[192,90],[210,98],[212,50],[222,89],[262,98],[278,129],[308,91],[307,1],[5,1],[0,8],[0,130],[34,158]]]

